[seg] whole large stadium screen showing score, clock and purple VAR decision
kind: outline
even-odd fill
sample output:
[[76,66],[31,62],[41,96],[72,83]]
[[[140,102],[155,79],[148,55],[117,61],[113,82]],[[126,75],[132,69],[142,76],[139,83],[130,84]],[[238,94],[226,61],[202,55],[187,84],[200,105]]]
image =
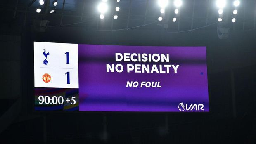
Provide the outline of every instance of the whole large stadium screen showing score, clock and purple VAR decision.
[[206,47],[34,42],[36,111],[209,112]]

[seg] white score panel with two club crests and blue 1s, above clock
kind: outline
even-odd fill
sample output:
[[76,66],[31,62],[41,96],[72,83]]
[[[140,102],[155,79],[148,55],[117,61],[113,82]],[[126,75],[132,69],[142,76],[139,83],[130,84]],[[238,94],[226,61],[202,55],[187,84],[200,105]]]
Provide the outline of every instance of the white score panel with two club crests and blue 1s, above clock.
[[34,42],[35,87],[79,88],[78,44]]

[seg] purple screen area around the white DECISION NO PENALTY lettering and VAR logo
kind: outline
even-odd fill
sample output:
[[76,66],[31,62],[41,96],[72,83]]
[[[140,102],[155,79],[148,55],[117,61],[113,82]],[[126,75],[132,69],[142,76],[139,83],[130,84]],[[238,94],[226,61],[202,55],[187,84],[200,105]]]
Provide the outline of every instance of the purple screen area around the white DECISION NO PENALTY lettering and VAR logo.
[[[169,54],[170,62],[115,61],[116,52]],[[180,112],[180,102],[209,111],[206,47],[78,44],[78,62],[79,111]],[[106,64],[123,64],[124,71],[107,73]],[[180,66],[177,73],[127,73],[127,64]],[[161,88],[126,87],[127,81],[159,81]]]

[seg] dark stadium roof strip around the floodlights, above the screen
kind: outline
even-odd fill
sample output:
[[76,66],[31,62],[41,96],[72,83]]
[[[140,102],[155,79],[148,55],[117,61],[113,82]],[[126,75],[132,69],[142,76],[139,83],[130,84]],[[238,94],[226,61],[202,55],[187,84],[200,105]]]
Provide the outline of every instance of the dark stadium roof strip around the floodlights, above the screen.
[[[47,0],[44,0],[45,3]],[[15,18],[16,24],[33,24],[34,19],[48,20],[48,26],[76,26],[87,29],[114,31],[120,29],[141,28],[166,30],[168,32],[191,31],[197,28],[216,29],[218,22],[218,7],[216,0],[182,0],[179,13],[175,14],[174,0],[169,0],[163,21],[158,21],[161,16],[157,0],[108,0],[108,10],[104,19],[100,19],[97,6],[102,0],[57,0],[55,12],[50,14],[53,0],[50,0],[48,12],[45,5],[41,6],[42,12],[36,13],[39,0],[5,0],[0,4],[0,11],[5,14],[5,19]],[[227,0],[223,8],[223,21],[226,27],[237,30],[250,30],[255,28],[256,0],[240,0],[235,9],[234,0]],[[29,6],[29,3],[32,5]],[[64,8],[63,8],[64,4]],[[120,11],[115,7],[119,5]],[[113,19],[117,14],[118,19]],[[19,18],[17,18],[19,17]],[[172,19],[177,17],[177,21]],[[232,18],[236,22],[232,23]],[[18,20],[17,20],[18,19]]]

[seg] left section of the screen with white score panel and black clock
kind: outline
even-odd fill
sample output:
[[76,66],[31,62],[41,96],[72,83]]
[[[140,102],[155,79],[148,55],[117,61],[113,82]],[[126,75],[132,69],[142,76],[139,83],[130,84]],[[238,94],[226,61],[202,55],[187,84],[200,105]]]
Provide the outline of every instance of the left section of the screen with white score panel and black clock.
[[36,110],[78,110],[78,45],[34,42]]

